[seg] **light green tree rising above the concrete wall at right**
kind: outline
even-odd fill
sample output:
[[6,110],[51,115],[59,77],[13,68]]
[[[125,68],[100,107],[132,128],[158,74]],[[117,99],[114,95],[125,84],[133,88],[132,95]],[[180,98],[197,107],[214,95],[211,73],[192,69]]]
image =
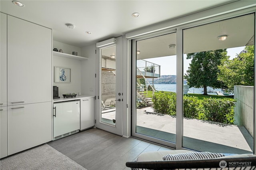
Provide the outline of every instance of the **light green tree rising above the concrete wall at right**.
[[222,59],[218,69],[218,80],[228,92],[234,92],[234,85],[254,86],[254,45],[246,46],[234,59]]

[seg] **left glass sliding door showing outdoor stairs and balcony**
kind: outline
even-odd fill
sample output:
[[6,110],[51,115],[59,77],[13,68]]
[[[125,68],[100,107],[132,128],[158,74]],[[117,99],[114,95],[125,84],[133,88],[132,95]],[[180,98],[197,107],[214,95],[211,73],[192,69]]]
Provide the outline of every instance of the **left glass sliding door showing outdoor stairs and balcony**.
[[132,135],[175,147],[176,32],[132,43]]

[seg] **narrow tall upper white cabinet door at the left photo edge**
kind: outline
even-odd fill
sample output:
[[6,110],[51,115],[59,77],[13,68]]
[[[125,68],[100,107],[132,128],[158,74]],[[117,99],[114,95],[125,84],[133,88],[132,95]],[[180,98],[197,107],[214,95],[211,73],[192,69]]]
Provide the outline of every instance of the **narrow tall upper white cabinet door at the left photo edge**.
[[0,13],[0,106],[7,105],[7,15]]

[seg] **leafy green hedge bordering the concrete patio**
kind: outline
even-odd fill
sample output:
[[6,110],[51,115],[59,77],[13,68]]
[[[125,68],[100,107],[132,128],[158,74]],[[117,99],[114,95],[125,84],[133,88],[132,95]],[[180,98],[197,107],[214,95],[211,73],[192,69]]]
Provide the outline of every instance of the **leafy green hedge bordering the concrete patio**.
[[[176,115],[176,93],[162,93],[152,97],[156,113]],[[226,124],[234,123],[234,99],[183,97],[184,117]]]

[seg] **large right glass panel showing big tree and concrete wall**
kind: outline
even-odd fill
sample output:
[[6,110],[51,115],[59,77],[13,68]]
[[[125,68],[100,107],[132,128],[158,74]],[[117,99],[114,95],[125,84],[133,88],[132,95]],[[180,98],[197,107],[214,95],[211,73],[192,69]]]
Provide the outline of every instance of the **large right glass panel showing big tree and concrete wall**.
[[183,30],[184,148],[253,153],[254,17]]

